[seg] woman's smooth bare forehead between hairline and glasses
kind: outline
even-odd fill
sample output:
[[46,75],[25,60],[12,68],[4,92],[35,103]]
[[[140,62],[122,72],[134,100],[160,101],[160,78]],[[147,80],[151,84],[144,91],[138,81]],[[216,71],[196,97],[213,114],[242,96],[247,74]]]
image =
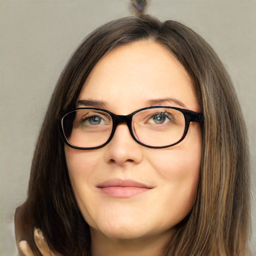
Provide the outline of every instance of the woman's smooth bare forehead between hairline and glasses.
[[132,42],[107,53],[93,68],[79,96],[104,101],[109,110],[121,114],[164,98],[199,110],[186,70],[169,50],[153,41]]

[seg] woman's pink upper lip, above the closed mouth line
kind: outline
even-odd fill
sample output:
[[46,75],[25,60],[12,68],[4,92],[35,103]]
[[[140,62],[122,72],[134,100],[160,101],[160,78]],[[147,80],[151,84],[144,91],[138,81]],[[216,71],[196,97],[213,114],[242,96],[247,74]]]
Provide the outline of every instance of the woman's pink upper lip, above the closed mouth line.
[[133,186],[133,187],[152,188],[152,186],[146,185],[144,183],[141,183],[132,179],[120,179],[120,178],[107,179],[102,183],[97,184],[96,186],[100,188],[108,187],[108,186],[122,186],[122,187]]

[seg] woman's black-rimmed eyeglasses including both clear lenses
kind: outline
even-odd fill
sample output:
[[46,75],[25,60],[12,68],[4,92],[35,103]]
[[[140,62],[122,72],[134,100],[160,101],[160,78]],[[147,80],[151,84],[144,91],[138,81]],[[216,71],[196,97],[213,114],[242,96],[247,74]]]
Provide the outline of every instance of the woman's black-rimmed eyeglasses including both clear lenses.
[[77,149],[106,145],[119,123],[127,124],[137,143],[163,148],[183,140],[190,122],[203,121],[202,113],[172,106],[144,107],[128,115],[116,115],[101,108],[79,107],[65,113],[59,119],[59,127],[64,142]]

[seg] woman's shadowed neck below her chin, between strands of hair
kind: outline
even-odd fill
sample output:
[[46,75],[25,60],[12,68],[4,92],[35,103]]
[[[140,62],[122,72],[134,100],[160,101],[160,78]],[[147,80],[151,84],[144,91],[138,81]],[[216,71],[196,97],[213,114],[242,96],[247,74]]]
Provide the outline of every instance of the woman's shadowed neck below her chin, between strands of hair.
[[171,239],[170,231],[161,235],[139,238],[109,238],[101,232],[91,229],[92,256],[164,256]]

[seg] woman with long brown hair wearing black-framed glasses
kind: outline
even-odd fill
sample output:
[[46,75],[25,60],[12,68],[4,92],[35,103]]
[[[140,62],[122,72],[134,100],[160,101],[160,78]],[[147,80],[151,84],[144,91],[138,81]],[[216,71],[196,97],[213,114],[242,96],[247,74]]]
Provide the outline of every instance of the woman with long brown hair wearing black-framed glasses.
[[39,228],[60,255],[248,255],[248,221],[245,126],[210,46],[148,15],[92,32],[50,100],[17,244],[39,255]]

